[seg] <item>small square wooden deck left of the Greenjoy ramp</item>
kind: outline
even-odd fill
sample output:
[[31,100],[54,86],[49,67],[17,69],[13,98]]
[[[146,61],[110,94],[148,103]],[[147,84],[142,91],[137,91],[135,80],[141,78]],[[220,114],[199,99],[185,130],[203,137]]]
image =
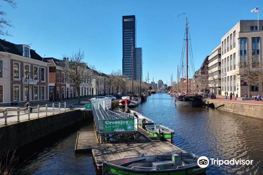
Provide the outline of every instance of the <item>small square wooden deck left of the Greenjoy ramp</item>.
[[75,144],[75,153],[89,153],[92,148],[98,148],[98,139],[95,131],[79,131]]

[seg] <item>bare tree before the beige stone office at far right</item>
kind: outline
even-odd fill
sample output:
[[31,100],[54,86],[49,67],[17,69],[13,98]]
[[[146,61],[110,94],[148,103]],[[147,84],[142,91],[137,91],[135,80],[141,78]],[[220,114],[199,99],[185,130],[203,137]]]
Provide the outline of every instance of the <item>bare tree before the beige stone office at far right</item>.
[[[244,55],[245,57],[245,55]],[[248,85],[248,96],[250,97],[251,85],[258,86],[262,82],[262,66],[256,53],[248,52],[243,62],[238,63],[237,77],[241,81],[240,85]]]

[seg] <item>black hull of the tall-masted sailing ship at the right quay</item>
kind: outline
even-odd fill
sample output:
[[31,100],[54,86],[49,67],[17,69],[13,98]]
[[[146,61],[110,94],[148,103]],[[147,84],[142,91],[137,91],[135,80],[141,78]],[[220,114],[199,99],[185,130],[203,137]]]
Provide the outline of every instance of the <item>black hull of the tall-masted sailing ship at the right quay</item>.
[[202,96],[179,96],[175,100],[175,104],[179,107],[192,107],[192,108],[202,108],[204,106]]

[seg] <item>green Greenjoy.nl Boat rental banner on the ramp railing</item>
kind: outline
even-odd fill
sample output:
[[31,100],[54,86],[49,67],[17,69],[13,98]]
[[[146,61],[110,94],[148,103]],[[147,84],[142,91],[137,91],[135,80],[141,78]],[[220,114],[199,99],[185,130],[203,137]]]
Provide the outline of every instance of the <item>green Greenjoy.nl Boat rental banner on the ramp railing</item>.
[[133,131],[133,130],[134,130],[133,118],[103,120],[103,132]]

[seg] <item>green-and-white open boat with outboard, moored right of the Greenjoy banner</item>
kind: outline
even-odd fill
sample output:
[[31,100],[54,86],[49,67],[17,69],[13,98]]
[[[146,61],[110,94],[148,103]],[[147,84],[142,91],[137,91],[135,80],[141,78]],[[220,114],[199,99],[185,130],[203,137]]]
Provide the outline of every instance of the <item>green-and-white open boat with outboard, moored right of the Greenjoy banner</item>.
[[161,139],[172,139],[174,136],[174,130],[169,129],[162,125],[146,125],[146,131],[154,137],[158,137],[158,129],[161,130]]

